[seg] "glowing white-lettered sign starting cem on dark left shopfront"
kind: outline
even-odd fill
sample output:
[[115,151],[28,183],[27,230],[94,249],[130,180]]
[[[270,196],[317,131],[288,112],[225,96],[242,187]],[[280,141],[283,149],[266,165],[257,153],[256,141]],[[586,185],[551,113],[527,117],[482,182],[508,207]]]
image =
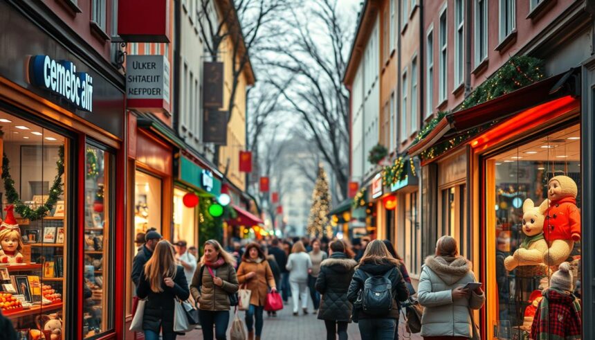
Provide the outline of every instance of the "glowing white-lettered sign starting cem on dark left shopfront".
[[77,72],[73,62],[35,55],[30,60],[30,71],[32,84],[52,91],[83,111],[93,112],[93,78]]

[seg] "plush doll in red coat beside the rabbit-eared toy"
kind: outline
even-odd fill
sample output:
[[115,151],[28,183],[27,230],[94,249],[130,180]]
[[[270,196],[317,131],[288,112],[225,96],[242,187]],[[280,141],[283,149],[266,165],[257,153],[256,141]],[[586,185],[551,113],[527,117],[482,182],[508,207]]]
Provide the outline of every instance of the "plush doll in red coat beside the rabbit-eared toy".
[[547,198],[549,208],[543,229],[549,249],[543,256],[546,265],[558,266],[564,262],[574,242],[580,240],[580,211],[576,206],[576,183],[567,176],[549,180]]

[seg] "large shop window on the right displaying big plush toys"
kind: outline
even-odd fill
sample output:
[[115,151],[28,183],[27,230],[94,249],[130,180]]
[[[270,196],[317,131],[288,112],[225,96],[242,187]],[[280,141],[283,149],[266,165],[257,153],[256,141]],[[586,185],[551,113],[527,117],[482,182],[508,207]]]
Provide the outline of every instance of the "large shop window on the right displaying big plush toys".
[[[543,289],[581,297],[580,126],[489,158],[486,179],[488,313],[498,339],[528,339]],[[551,280],[561,262],[567,285]]]

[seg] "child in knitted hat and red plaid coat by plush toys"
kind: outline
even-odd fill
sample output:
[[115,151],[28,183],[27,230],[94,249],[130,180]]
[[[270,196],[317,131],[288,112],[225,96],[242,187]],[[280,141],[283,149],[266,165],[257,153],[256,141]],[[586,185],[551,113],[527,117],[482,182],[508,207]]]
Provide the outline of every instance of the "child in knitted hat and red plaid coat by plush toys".
[[533,324],[531,339],[581,339],[580,304],[572,294],[572,272],[562,262],[542,292]]

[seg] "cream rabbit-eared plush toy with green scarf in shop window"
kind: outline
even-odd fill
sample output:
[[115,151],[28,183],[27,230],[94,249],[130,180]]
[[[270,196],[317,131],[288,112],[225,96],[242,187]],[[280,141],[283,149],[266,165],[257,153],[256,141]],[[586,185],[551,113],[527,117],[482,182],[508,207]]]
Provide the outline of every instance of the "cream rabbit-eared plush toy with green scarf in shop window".
[[518,266],[540,265],[543,254],[547,251],[547,242],[543,236],[545,212],[549,201],[535,206],[531,199],[525,199],[522,205],[522,232],[527,236],[512,256],[504,259],[504,267],[511,271]]

